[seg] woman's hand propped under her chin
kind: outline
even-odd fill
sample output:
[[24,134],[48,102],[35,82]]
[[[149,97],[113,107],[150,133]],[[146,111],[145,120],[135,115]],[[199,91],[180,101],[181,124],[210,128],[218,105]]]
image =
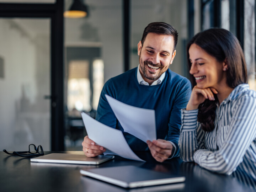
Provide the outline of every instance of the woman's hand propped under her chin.
[[218,94],[217,90],[213,87],[207,87],[205,89],[200,89],[197,86],[194,86],[188,101],[186,110],[195,110],[198,109],[198,106],[203,103],[206,99],[211,101],[215,100],[213,94]]

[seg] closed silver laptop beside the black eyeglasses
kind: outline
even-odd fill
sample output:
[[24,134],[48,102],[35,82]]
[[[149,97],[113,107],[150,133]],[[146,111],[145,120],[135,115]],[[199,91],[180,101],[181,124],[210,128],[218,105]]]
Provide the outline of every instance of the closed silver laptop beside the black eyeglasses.
[[67,164],[83,164],[83,165],[98,165],[105,161],[114,159],[112,155],[98,155],[95,158],[89,158],[85,155],[51,153],[48,155],[31,158],[32,162],[48,162],[48,163],[67,163]]

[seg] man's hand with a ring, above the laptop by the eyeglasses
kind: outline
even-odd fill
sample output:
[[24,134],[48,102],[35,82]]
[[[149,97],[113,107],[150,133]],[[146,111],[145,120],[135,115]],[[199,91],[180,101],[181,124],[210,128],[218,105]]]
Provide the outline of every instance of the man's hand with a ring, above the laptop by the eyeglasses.
[[86,135],[84,141],[82,142],[83,151],[87,157],[95,157],[106,151],[103,146],[96,145],[96,143],[89,139]]

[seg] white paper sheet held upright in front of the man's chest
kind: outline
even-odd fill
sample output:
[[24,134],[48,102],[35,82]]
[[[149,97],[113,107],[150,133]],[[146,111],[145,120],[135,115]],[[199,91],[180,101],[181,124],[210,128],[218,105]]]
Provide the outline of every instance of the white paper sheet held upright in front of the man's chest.
[[155,110],[130,106],[106,94],[105,96],[125,132],[144,142],[156,139]]

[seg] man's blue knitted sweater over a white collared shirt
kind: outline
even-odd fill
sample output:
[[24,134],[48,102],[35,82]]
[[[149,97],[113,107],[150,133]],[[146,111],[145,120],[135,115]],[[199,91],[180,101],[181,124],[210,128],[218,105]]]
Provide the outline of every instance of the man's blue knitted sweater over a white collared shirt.
[[137,80],[138,68],[109,79],[100,95],[96,120],[123,132],[133,151],[147,151],[148,145],[142,140],[123,131],[105,94],[131,106],[155,110],[156,137],[169,140],[176,146],[175,154],[179,155],[181,109],[185,108],[191,95],[191,84],[188,79],[168,69],[165,78],[159,85],[140,85]]

